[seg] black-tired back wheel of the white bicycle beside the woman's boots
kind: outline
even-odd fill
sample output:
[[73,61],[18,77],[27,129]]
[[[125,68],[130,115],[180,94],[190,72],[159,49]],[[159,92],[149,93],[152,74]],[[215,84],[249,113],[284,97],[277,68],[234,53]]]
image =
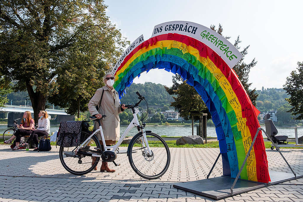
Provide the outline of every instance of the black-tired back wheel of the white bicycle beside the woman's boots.
[[[82,132],[82,133],[85,133],[85,132]],[[86,135],[86,134],[84,134],[84,135]],[[86,146],[86,147],[96,147],[99,149],[101,148],[100,142],[95,135],[93,135],[91,137],[91,141],[94,141],[96,146]],[[80,145],[81,144],[82,144],[82,142],[80,143]],[[89,144],[91,144],[91,143],[89,143]],[[100,161],[100,157],[95,157],[96,161],[92,165],[92,157],[84,156],[84,155],[78,156],[77,154],[72,152],[72,150],[75,148],[76,147],[60,146],[59,157],[60,157],[61,164],[63,165],[65,170],[67,170],[69,173],[74,174],[74,175],[85,175],[85,174],[91,172],[97,166],[98,162]],[[67,149],[67,151],[66,151],[66,149]],[[66,153],[64,153],[64,152],[66,152]],[[82,163],[83,159],[85,159],[85,162]],[[82,170],[81,170],[81,164],[82,164]],[[83,165],[83,164],[85,164],[85,165]]]

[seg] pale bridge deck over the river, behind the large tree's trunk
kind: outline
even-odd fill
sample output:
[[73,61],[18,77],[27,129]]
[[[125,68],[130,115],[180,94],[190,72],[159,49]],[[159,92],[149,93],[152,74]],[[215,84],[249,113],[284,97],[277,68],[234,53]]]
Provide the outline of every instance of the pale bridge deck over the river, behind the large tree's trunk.
[[[47,111],[48,114],[69,115],[64,110],[61,109],[45,109],[45,110]],[[32,106],[23,106],[23,105],[4,105],[4,107],[1,108],[0,111],[5,111],[5,112],[30,111],[31,113],[34,113]]]

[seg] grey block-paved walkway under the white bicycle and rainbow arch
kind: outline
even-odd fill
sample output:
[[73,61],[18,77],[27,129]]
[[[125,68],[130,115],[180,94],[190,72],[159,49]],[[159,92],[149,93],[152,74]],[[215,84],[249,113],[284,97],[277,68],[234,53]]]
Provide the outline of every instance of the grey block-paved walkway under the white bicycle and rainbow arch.
[[[216,201],[174,188],[175,182],[205,179],[218,156],[216,148],[171,148],[171,164],[160,179],[140,178],[119,154],[115,173],[92,171],[75,176],[62,167],[58,149],[11,151],[0,145],[0,201]],[[272,170],[291,173],[275,150],[266,150]],[[297,174],[303,174],[303,150],[281,149]],[[112,163],[109,163],[114,167]],[[218,161],[211,177],[222,175]],[[219,201],[303,201],[303,178]]]

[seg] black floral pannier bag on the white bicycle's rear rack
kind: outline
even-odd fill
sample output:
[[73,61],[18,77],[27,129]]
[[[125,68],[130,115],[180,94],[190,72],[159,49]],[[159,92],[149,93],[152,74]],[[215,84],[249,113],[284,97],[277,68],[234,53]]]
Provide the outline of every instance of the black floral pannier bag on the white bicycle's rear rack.
[[82,121],[62,121],[57,134],[57,145],[75,147],[81,144]]

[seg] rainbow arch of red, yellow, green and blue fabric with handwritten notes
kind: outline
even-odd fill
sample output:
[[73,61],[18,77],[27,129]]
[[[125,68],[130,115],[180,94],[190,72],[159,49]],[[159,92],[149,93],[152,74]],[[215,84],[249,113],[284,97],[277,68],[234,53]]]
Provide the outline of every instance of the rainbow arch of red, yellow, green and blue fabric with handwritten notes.
[[[135,77],[151,69],[179,74],[194,86],[208,107],[216,127],[223,175],[236,177],[258,127],[259,111],[226,62],[201,41],[187,35],[158,35],[132,49],[114,71],[114,88],[123,96]],[[261,131],[240,175],[268,183],[268,161]]]

